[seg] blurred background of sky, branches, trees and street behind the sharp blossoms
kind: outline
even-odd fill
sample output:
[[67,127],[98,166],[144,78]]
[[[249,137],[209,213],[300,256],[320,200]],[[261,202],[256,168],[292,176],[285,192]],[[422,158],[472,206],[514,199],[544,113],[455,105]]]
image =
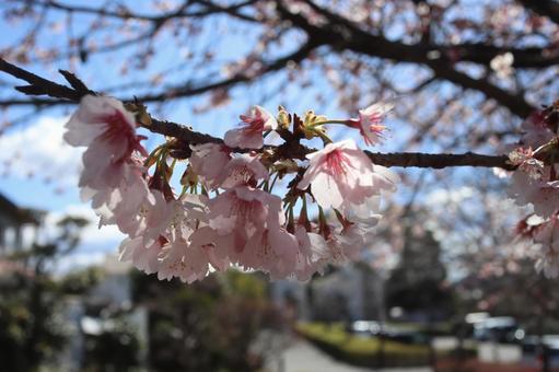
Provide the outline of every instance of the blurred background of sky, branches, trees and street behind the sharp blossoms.
[[[555,0],[4,0],[0,14],[5,60],[213,136],[253,104],[348,118],[393,100],[372,151],[497,154],[558,98]],[[515,237],[529,209],[503,172],[396,170],[362,259],[308,282],[158,281],[118,261],[121,234],[80,201],[81,150],[62,143],[74,106],[16,84],[0,74],[0,371],[559,370],[559,282]]]

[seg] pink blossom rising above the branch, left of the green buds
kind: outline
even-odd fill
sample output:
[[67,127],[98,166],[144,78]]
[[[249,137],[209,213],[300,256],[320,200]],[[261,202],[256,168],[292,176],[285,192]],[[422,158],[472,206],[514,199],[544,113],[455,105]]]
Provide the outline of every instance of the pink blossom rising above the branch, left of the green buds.
[[230,148],[261,149],[264,132],[278,127],[278,121],[266,109],[254,106],[251,115],[241,115],[241,127],[228,130],[224,141]]

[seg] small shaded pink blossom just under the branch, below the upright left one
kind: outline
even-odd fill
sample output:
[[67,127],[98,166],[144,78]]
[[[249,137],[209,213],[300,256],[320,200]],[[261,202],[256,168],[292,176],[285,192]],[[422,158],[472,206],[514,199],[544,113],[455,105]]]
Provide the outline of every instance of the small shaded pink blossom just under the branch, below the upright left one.
[[268,178],[268,170],[259,161],[259,156],[247,153],[233,158],[221,173],[220,187],[222,188],[238,185],[256,186],[257,181]]

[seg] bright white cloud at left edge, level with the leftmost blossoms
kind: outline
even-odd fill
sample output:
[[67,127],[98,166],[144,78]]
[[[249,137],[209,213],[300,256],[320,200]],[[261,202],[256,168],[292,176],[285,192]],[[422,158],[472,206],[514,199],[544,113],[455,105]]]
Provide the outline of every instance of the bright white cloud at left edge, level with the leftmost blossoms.
[[67,117],[40,117],[36,124],[0,137],[0,162],[4,173],[49,179],[58,187],[78,184],[83,149],[62,140]]

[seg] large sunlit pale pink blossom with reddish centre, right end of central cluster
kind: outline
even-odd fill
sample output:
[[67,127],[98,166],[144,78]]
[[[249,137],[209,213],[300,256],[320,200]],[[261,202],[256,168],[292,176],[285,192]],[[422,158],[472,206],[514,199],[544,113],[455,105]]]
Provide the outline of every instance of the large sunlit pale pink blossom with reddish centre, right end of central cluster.
[[310,165],[299,183],[300,189],[311,190],[323,208],[336,208],[348,213],[382,191],[393,190],[398,176],[373,165],[353,140],[328,143],[323,150],[307,155]]

